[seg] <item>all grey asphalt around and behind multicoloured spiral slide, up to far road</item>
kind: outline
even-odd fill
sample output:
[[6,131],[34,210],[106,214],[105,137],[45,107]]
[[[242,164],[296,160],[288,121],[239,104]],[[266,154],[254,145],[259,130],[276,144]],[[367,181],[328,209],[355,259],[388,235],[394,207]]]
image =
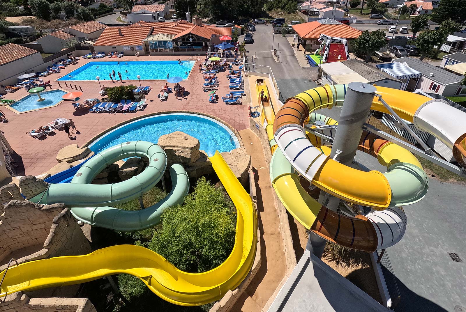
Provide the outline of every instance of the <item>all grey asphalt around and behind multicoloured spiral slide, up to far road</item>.
[[[367,24],[357,26],[367,27]],[[270,51],[272,42],[274,48],[280,44],[283,49],[281,63],[275,63],[270,52],[256,52],[258,58],[254,59],[254,64],[272,68],[284,99],[314,88],[314,82],[308,81],[315,75],[314,68],[301,68],[295,56],[286,55],[285,50],[290,48],[286,38],[273,35],[271,26],[257,25],[256,29],[255,42],[246,45],[249,62],[252,62],[254,52]],[[338,119],[340,109],[322,109],[319,113]],[[357,152],[356,161],[370,170],[386,171],[376,158],[363,152]],[[393,281],[396,281],[401,294],[396,312],[464,311],[455,310],[455,306],[466,307],[465,202],[465,185],[440,182],[430,177],[426,197],[404,207],[408,217],[406,233],[386,253],[394,272],[394,275],[386,276],[387,284],[393,290]],[[458,253],[463,263],[453,262],[449,252]],[[392,296],[393,300],[393,293]]]

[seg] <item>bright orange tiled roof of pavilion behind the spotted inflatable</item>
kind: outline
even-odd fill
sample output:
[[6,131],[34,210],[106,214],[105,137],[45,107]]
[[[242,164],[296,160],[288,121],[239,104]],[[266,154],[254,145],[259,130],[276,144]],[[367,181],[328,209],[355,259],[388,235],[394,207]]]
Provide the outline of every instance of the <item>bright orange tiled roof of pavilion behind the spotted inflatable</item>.
[[354,39],[362,34],[362,31],[351,26],[339,24],[321,24],[319,21],[302,23],[292,26],[296,34],[302,39],[317,39],[321,34],[326,34],[332,37],[340,37],[346,39]]

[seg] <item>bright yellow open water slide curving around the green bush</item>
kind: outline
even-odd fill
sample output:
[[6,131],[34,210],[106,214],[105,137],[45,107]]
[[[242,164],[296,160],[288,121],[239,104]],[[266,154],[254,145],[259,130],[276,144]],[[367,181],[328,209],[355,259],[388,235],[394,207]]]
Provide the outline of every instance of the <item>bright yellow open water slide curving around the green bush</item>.
[[[117,245],[88,255],[41,259],[14,265],[7,271],[0,297],[21,291],[73,285],[127,273],[140,278],[159,297],[177,305],[203,305],[222,298],[247,276],[257,247],[257,211],[217,151],[212,167],[232,199],[238,217],[233,251],[224,263],[204,273],[178,270],[159,254],[135,245]],[[3,276],[5,271],[0,273]]]

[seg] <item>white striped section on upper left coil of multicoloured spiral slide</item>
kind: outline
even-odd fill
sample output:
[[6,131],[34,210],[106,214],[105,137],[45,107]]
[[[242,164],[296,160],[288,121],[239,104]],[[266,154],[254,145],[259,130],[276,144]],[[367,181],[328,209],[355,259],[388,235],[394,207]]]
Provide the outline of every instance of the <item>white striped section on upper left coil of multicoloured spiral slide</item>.
[[281,127],[275,133],[275,141],[283,155],[308,181],[312,181],[327,159],[325,154],[309,142],[304,128],[300,125],[290,124]]

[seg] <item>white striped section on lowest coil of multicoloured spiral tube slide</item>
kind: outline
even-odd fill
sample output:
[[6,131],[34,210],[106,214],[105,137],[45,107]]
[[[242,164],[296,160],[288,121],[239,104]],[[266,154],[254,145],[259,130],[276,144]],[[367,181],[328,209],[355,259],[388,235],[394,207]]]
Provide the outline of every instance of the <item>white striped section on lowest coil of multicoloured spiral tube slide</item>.
[[374,211],[366,216],[374,225],[378,238],[378,248],[388,248],[397,244],[404,235],[408,219],[399,207]]

